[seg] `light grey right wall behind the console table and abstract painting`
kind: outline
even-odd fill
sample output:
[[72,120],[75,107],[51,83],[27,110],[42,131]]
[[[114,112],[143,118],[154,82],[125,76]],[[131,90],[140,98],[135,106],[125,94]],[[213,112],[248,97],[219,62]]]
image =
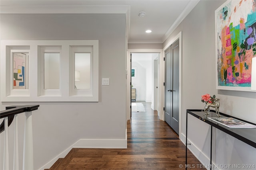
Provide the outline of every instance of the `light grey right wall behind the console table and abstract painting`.
[[[200,1],[164,42],[182,31],[182,136],[186,134],[186,109],[202,109],[201,95],[220,98],[220,111],[256,123],[256,93],[216,90],[215,87],[215,21],[214,11],[225,0]],[[198,119],[188,117],[190,149],[204,163],[208,158],[210,130]],[[202,124],[202,125],[201,125]],[[255,164],[256,149],[214,130],[216,155],[214,164]],[[206,135],[206,137],[205,137]]]

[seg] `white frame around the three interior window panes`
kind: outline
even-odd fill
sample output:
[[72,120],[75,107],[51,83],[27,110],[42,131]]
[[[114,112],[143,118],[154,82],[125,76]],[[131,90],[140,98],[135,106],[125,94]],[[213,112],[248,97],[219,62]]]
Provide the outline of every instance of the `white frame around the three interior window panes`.
[[[2,102],[98,102],[98,40],[5,40],[1,41],[1,101]],[[72,47],[90,47],[92,62],[90,67],[90,89],[74,89],[74,64],[70,58]],[[58,47],[54,52],[60,53],[60,88],[42,89],[44,87],[44,64],[42,47]],[[15,52],[13,52],[15,51]],[[12,53],[27,54],[25,89],[14,89]],[[73,51],[74,53],[74,51]],[[27,64],[28,63],[28,64]],[[23,87],[24,85],[22,85]],[[16,88],[16,86],[15,86]],[[73,92],[76,92],[75,94]],[[86,92],[85,92],[86,91]],[[46,93],[47,92],[47,93]]]

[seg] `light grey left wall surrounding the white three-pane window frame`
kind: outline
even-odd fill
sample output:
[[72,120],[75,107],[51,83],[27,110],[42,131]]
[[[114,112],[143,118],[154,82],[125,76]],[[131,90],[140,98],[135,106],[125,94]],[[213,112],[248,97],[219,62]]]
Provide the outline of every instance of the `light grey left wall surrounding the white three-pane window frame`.
[[[101,147],[107,147],[104,141],[113,140],[110,147],[126,147],[126,16],[1,14],[0,17],[1,40],[99,40],[99,102],[1,102],[1,109],[17,104],[40,105],[32,114],[34,168],[41,168],[80,139],[99,141]],[[110,78],[110,86],[101,86],[102,78]],[[23,134],[24,114],[18,117],[19,132]],[[13,153],[12,132],[13,125],[9,136],[10,156]],[[3,133],[0,137],[2,165]],[[20,135],[20,162],[22,140]],[[117,145],[119,141],[124,145]],[[94,147],[93,144],[85,142],[85,147]],[[21,166],[20,163],[20,169]]]

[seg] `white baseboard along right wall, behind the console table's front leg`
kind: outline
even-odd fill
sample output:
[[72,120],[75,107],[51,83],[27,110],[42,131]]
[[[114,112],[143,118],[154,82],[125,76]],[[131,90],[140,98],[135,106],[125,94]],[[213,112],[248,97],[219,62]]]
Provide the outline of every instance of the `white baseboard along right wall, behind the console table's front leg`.
[[[186,146],[186,136],[181,133],[181,135],[179,136],[180,140],[182,141],[182,143]],[[204,154],[204,152],[202,152],[202,150],[200,150],[198,147],[196,147],[196,145],[194,145],[194,143],[192,143],[189,139],[188,139],[188,143],[190,143],[191,145],[188,145],[188,149],[190,150],[190,152],[192,152],[192,154],[201,162],[201,164],[203,165],[209,165],[210,163],[210,158],[208,156],[206,156]],[[199,156],[200,155],[200,156]],[[190,167],[192,167],[193,165],[191,164]],[[208,170],[210,168],[206,167]]]

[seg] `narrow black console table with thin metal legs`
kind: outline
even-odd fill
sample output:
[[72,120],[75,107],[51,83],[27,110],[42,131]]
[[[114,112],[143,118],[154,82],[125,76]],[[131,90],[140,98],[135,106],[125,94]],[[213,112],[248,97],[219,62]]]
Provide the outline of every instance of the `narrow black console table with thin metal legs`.
[[[199,109],[187,109],[186,112],[187,112],[186,114],[186,164],[187,164],[187,146],[190,145],[188,144],[188,114],[198,118],[201,121],[204,121],[205,123],[211,126],[211,140],[210,140],[211,141],[211,149],[210,149],[211,165],[212,165],[212,127],[220,129],[221,131],[235,137],[236,139],[239,139],[240,141],[243,141],[244,143],[247,143],[248,145],[256,148],[256,128],[228,128],[224,125],[221,125],[220,123],[207,119],[207,117],[217,117],[214,110],[210,110],[210,114],[207,116],[205,116],[202,110],[199,110]],[[221,117],[233,117],[221,112],[220,112],[220,115]],[[236,117],[233,117],[233,118],[238,119]],[[238,119],[238,120],[244,121],[246,123],[250,123],[252,125],[256,125],[255,123],[251,123],[242,119]],[[210,167],[210,170],[211,169],[212,167]]]

